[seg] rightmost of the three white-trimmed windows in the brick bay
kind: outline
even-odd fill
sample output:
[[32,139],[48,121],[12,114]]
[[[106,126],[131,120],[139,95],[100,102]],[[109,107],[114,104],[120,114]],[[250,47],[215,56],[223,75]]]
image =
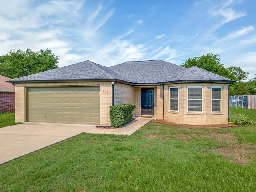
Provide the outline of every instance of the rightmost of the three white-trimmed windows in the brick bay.
[[212,112],[222,112],[222,87],[212,86]]

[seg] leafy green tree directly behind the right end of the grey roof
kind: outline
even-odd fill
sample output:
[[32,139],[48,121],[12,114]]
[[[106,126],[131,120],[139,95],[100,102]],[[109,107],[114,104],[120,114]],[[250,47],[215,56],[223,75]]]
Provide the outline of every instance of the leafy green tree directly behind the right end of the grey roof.
[[186,68],[198,66],[217,75],[229,78],[231,80],[237,80],[236,77],[220,63],[220,56],[213,53],[208,53],[207,55],[202,55],[200,57],[189,58],[183,61],[180,66]]

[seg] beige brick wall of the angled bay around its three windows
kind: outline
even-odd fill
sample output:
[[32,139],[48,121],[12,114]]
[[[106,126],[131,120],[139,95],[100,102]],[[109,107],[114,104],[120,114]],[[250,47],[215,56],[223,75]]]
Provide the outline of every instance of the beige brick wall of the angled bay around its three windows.
[[[179,87],[179,111],[169,110],[169,87]],[[187,86],[203,86],[203,112],[187,112]],[[222,86],[222,112],[212,112],[212,86]],[[164,120],[179,124],[225,124],[228,123],[228,84],[220,83],[184,83],[164,85]],[[159,98],[159,97],[158,97]],[[160,103],[160,101],[158,102]],[[160,109],[160,106],[158,107]],[[162,119],[162,113],[158,112],[158,119]]]

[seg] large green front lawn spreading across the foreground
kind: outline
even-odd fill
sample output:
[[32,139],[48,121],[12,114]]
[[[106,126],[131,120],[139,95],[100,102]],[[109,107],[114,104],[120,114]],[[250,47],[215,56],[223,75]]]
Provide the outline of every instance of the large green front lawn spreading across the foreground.
[[[232,141],[219,137],[234,134]],[[250,146],[256,128],[148,123],[132,136],[81,134],[0,165],[0,191],[256,191],[256,157],[238,164],[212,152]],[[208,137],[209,136],[209,137]]]

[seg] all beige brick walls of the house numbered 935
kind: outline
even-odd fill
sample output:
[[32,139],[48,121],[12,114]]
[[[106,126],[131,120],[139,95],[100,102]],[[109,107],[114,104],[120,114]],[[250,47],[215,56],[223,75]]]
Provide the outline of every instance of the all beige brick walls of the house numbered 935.
[[[16,83],[15,86],[15,121],[26,121],[27,86],[100,86],[100,125],[110,125],[109,106],[112,105],[111,82],[59,82],[59,83]],[[179,111],[169,111],[169,87],[179,87]],[[186,86],[204,86],[203,113],[187,112]],[[222,112],[212,113],[211,86],[222,86]],[[135,103],[135,116],[140,116],[141,89],[154,88],[154,116],[163,118],[163,88],[161,86],[137,86],[118,83],[114,85],[114,105]],[[228,84],[188,83],[164,85],[164,120],[179,124],[224,124],[228,122]]]

